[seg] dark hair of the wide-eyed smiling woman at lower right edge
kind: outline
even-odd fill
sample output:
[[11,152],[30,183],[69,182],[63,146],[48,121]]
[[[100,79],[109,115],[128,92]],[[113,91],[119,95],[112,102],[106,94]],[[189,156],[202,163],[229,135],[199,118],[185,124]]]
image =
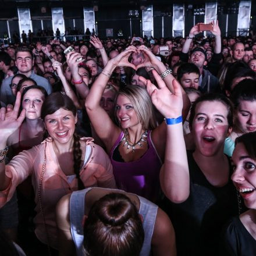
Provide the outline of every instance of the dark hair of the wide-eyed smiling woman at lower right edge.
[[256,131],[253,133],[244,133],[240,137],[237,137],[234,144],[237,145],[237,143],[243,143],[249,156],[256,159]]

